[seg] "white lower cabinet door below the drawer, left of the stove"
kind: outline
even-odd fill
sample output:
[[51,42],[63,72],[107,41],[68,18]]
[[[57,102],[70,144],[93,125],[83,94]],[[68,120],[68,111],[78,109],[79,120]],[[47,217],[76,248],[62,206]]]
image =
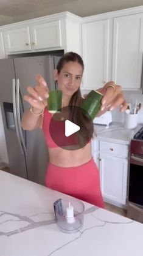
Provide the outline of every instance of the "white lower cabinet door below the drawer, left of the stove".
[[100,154],[100,186],[103,198],[126,204],[128,160]]

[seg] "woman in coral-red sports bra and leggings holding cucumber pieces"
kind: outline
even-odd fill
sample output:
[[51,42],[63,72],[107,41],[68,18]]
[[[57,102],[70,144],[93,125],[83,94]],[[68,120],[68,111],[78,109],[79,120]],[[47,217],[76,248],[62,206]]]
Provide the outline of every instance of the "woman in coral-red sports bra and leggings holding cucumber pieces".
[[[57,69],[54,70],[54,78],[57,81],[58,89],[62,91],[62,107],[68,105],[80,107],[82,104],[80,83],[83,69],[82,58],[77,53],[66,53],[58,62]],[[57,146],[49,133],[52,115],[47,110],[48,91],[46,81],[38,75],[37,85],[34,88],[31,86],[27,88],[29,95],[24,96],[31,108],[24,113],[21,121],[23,129],[32,130],[36,127],[43,129],[49,149],[46,186],[104,208],[99,171],[91,154],[90,133],[92,129],[90,128],[92,124],[86,116],[75,111],[72,113],[72,121],[76,120],[83,127],[83,134],[78,133],[77,135],[80,147],[76,150],[67,150]],[[113,110],[119,105],[122,106],[120,107],[121,111],[127,108],[121,88],[114,82],[106,83],[98,91],[104,95],[99,115],[107,110]],[[86,139],[84,134],[88,136]]]

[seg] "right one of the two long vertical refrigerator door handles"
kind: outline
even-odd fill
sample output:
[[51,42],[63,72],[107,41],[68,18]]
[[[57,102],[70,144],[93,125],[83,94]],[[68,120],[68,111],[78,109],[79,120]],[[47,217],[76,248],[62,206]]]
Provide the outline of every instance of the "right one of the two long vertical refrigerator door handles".
[[16,110],[17,110],[17,116],[18,116],[19,134],[21,137],[21,141],[23,143],[24,152],[25,152],[25,154],[27,154],[26,144],[25,144],[24,136],[23,136],[23,130],[21,128],[21,118],[20,118],[20,108],[19,108],[19,79],[16,79]]

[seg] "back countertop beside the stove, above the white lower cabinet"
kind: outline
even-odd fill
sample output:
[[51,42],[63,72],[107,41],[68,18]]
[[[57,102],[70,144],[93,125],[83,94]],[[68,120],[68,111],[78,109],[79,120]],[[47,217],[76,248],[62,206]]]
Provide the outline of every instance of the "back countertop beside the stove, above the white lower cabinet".
[[134,134],[136,134],[136,132],[138,132],[142,126],[143,124],[138,124],[136,129],[125,129],[122,122],[112,122],[110,126],[100,126],[94,124],[94,130],[97,134],[97,138],[100,140],[130,145],[130,141]]

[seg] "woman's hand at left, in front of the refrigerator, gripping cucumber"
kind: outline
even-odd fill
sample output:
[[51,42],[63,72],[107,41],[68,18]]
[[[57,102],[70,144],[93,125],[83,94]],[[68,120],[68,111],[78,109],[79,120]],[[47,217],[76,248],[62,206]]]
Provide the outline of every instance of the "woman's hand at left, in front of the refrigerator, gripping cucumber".
[[47,83],[41,75],[36,76],[37,85],[29,86],[27,92],[29,95],[24,96],[24,100],[37,110],[37,112],[44,110],[47,106],[47,98],[49,97],[49,89]]

